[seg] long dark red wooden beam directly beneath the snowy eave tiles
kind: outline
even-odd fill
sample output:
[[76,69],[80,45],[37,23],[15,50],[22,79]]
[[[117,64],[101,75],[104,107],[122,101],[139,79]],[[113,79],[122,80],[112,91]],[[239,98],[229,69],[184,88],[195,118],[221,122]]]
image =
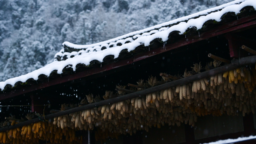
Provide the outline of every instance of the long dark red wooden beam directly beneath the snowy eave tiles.
[[254,27],[256,26],[256,14],[246,16],[244,18],[240,18],[238,20],[229,22],[227,24],[220,25],[219,27],[213,28],[212,30],[206,31],[204,33],[200,33],[200,37],[198,35],[196,36],[187,36],[186,38],[182,38],[179,41],[175,43],[170,43],[165,46],[165,49],[163,46],[161,48],[153,49],[147,52],[139,53],[137,55],[134,55],[130,58],[121,59],[117,62],[102,65],[102,67],[94,67],[89,68],[86,71],[80,71],[76,72],[67,76],[58,77],[55,79],[49,79],[48,82],[38,82],[37,84],[23,87],[21,89],[15,89],[10,92],[4,92],[3,94],[0,94],[0,100],[11,98],[13,96],[25,94],[28,92],[36,91],[38,89],[43,89],[49,86],[58,85],[60,83],[69,82],[75,79],[80,79],[82,77],[91,76],[93,74],[102,73],[104,71],[109,71],[115,68],[122,67],[124,65],[132,64],[133,62],[140,61],[145,58],[149,58],[154,55],[158,55],[160,53],[164,53],[166,51],[179,48],[181,46],[190,45],[191,43],[199,42],[201,40],[206,40],[211,37],[219,36],[221,34],[229,33],[232,31],[242,30],[244,28]]

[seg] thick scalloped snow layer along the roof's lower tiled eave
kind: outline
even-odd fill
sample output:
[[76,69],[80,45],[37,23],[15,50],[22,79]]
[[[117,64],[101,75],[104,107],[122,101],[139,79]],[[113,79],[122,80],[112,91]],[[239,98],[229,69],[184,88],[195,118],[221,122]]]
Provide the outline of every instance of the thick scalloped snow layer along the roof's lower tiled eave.
[[[168,28],[167,30],[162,30],[162,31],[159,31],[158,33],[155,33],[155,34],[152,34],[149,36],[138,37],[138,39],[134,40],[133,42],[126,43],[121,46],[115,46],[112,48],[100,50],[101,47],[99,47],[99,46],[95,47],[97,45],[87,45],[87,46],[90,46],[91,48],[88,47],[86,50],[80,50],[79,51],[80,55],[75,55],[73,58],[68,58],[65,61],[54,61],[54,62],[46,65],[45,67],[42,67],[42,68],[35,70],[31,73],[28,73],[28,74],[25,74],[25,75],[22,75],[19,77],[15,77],[12,79],[8,79],[5,82],[0,82],[0,89],[3,90],[7,84],[14,86],[16,82],[19,82],[19,81],[26,82],[30,78],[33,78],[34,80],[38,80],[38,76],[40,74],[45,74],[46,76],[49,76],[51,74],[51,72],[54,70],[57,70],[58,74],[62,74],[63,68],[65,68],[67,65],[72,65],[72,68],[75,71],[77,64],[89,65],[92,60],[98,60],[99,62],[103,62],[103,58],[106,57],[107,55],[114,55],[114,58],[118,58],[121,50],[127,49],[128,52],[130,52],[131,50],[134,50],[137,46],[140,46],[140,45],[149,46],[150,42],[157,38],[162,39],[163,42],[166,42],[168,39],[168,35],[172,31],[180,31],[180,34],[183,34],[188,28],[191,28],[191,27],[196,27],[197,29],[201,29],[203,24],[210,19],[215,20],[215,21],[221,21],[221,16],[223,14],[225,14],[226,12],[235,12],[237,14],[240,12],[240,10],[243,7],[246,7],[246,6],[253,6],[256,9],[256,0],[246,0],[240,4],[230,5],[232,3],[238,3],[238,2],[240,2],[240,0],[233,1],[228,4],[224,4],[226,6],[225,8],[223,8],[223,6],[221,6],[221,7],[219,6],[219,7],[215,8],[215,9],[223,8],[220,11],[212,12],[206,16],[201,16],[192,21],[188,21],[188,22],[181,23],[178,25],[173,25],[170,28]],[[204,10],[201,13],[207,13],[207,12],[208,12],[207,10]],[[199,12],[199,14],[200,14],[200,12]],[[197,14],[197,15],[199,15],[199,14]],[[189,17],[186,17],[186,19],[187,18],[189,18]],[[180,19],[185,19],[185,18],[180,18]],[[160,26],[157,26],[157,27],[160,27]],[[65,43],[67,43],[67,42],[65,42]],[[73,45],[73,44],[71,44],[71,45]],[[113,43],[113,45],[115,45],[115,43]],[[78,46],[77,48],[82,48],[79,45],[73,45],[73,46]],[[97,50],[94,51],[95,48],[92,48],[92,46],[97,48]],[[63,55],[69,56],[70,53],[65,52],[65,53],[63,53]]]

